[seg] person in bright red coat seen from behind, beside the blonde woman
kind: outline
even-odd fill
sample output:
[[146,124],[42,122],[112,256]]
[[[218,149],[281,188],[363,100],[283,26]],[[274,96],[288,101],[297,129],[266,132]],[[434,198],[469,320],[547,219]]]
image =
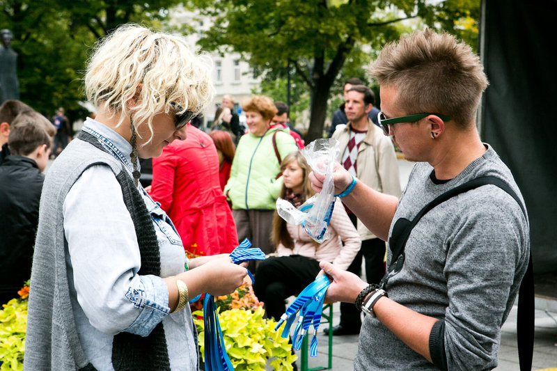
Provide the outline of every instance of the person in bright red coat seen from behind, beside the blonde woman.
[[150,195],[192,255],[230,253],[237,246],[236,225],[219,182],[217,148],[200,129],[188,125],[185,141],[173,141],[152,159]]

